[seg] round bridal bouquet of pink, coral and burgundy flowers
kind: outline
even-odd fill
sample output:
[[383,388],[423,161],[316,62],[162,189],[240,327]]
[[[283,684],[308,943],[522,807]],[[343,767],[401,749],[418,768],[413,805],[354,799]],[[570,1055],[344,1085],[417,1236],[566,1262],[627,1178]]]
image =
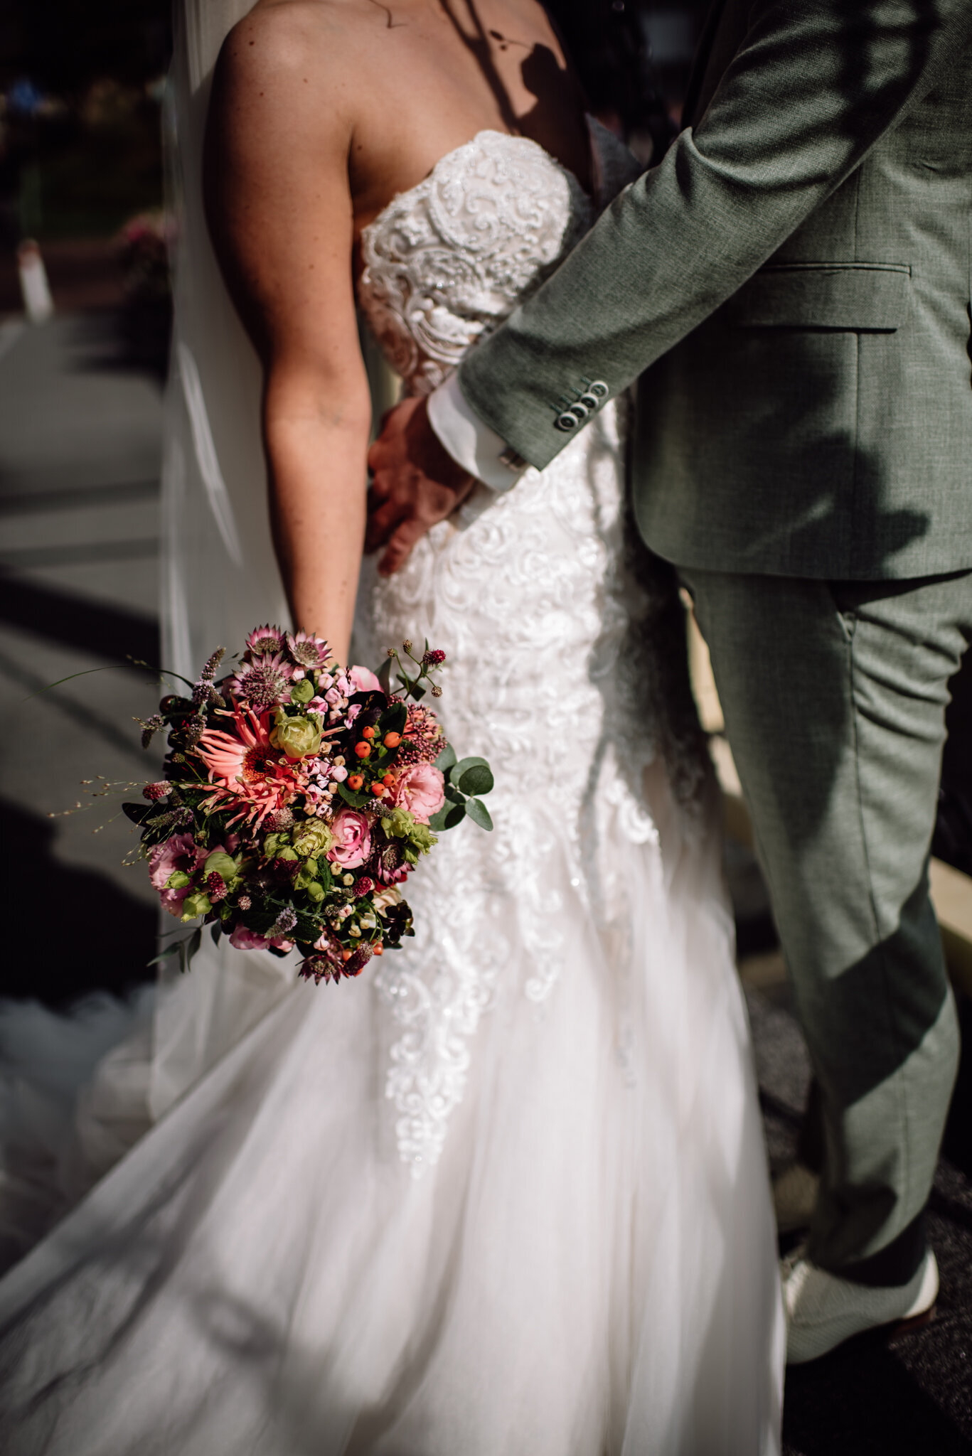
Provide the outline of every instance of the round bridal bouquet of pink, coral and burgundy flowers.
[[487,761],[458,761],[420,702],[440,696],[444,652],[411,648],[376,676],[338,667],[321,638],[258,628],[233,673],[216,678],[219,648],[189,697],[163,697],[141,724],[144,747],[168,729],[165,779],[122,808],[162,904],[201,920],[165,952],[182,968],[210,925],[240,949],[297,946],[315,983],[358,976],[414,933],[401,885],[437,831],[463,817],[493,827]]

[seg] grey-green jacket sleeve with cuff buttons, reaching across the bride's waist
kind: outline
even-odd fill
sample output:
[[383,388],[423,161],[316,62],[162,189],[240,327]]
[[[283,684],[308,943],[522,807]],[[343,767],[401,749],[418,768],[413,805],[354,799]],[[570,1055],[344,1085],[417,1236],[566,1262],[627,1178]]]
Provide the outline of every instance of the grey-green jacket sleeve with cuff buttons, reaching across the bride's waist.
[[736,293],[969,33],[972,0],[756,0],[699,124],[465,360],[475,414],[545,466],[565,403],[619,393]]

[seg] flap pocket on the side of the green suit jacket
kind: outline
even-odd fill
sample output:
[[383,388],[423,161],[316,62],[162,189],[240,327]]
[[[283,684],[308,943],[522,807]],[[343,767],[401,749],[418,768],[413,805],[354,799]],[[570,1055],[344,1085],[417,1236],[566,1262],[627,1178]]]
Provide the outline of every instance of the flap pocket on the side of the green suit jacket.
[[893,333],[905,322],[908,264],[768,264],[729,300],[745,329]]

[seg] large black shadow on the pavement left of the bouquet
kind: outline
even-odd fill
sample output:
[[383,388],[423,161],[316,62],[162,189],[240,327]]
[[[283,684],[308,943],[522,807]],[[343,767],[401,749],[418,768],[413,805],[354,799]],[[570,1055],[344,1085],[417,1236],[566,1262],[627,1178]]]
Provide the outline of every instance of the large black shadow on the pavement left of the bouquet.
[[0,836],[4,900],[17,907],[6,922],[0,994],[63,1008],[89,990],[122,992],[153,978],[152,906],[96,871],[61,863],[54,824],[4,801]]

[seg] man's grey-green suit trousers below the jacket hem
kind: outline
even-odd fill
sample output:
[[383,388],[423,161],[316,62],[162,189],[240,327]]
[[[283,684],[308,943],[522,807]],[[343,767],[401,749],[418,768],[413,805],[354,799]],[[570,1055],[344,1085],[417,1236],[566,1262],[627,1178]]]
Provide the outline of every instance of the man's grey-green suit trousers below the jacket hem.
[[809,1252],[863,1283],[905,1283],[957,1064],[927,862],[972,574],[682,575],[819,1082]]

